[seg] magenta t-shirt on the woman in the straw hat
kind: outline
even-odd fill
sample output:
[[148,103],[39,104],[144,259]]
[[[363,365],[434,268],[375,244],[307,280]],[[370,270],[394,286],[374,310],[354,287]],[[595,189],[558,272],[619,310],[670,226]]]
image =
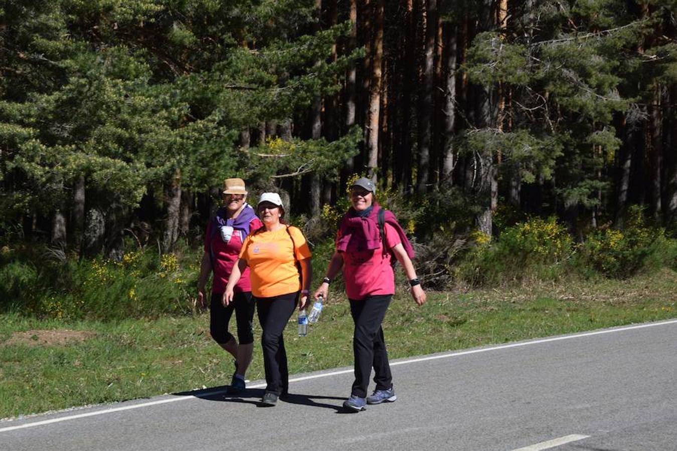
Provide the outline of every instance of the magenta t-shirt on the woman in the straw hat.
[[[214,280],[212,281],[212,292],[223,293],[225,285],[228,284],[228,277],[233,270],[236,260],[240,255],[242,249],[242,237],[240,231],[237,229],[233,231],[233,236],[227,243],[221,239],[221,233],[216,231],[212,234],[212,227],[214,222],[209,221],[206,234],[204,235],[204,252],[209,254],[209,242],[211,241],[211,251],[213,252],[213,272]],[[254,233],[256,229],[263,226],[259,218],[253,218],[249,222],[249,233]],[[249,282],[249,268],[245,268],[242,272],[242,277],[234,287],[234,291],[252,291],[251,283]]]

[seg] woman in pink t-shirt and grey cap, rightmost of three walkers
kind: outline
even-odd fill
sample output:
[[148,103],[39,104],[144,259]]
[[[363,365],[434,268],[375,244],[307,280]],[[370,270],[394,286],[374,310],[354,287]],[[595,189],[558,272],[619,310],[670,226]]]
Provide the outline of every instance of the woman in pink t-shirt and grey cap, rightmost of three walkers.
[[[414,251],[395,215],[385,211],[383,239],[378,226],[380,206],[375,203],[376,187],[370,179],[357,179],[351,187],[353,206],[343,217],[336,235],[336,252],[327,275],[315,291],[315,298],[327,298],[329,283],[343,267],[345,291],[355,323],[353,353],[355,382],[351,396],[343,406],[359,412],[366,404],[393,402],[397,399],[383,339],[381,323],[395,293],[395,274],[391,261],[402,265],[412,287],[416,304],[423,305],[423,291],[411,258]],[[383,242],[385,241],[385,243]],[[374,368],[376,389],[367,396],[369,376]]]

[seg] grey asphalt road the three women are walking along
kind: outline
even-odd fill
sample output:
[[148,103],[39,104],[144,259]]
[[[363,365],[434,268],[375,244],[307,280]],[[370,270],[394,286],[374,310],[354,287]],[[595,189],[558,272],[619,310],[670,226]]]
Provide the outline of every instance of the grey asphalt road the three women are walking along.
[[0,422],[0,450],[677,450],[677,320],[397,360],[397,401],[341,408],[351,369],[259,408],[223,387]]

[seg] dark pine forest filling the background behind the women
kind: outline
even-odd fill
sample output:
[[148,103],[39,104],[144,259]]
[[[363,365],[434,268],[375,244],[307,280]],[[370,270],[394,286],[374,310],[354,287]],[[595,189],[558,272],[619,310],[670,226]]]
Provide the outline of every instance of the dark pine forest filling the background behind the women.
[[[5,263],[21,243],[118,262],[198,245],[232,176],[253,196],[281,191],[319,241],[347,181],[371,176],[412,236],[439,245],[422,254],[438,262],[431,275],[529,218],[574,242],[638,224],[669,237],[676,11],[675,0],[0,1]],[[605,233],[598,252],[613,250]]]

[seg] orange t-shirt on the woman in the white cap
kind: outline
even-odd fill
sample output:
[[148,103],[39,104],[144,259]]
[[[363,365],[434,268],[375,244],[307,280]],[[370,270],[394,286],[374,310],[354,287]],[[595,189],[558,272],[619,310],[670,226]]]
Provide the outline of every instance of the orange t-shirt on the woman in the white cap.
[[[291,237],[290,237],[291,234]],[[296,245],[296,249],[292,245]],[[303,233],[293,226],[274,232],[263,231],[247,235],[242,243],[240,258],[249,266],[252,294],[257,298],[271,298],[296,293],[301,289],[299,270],[294,260],[310,258],[311,253]]]

